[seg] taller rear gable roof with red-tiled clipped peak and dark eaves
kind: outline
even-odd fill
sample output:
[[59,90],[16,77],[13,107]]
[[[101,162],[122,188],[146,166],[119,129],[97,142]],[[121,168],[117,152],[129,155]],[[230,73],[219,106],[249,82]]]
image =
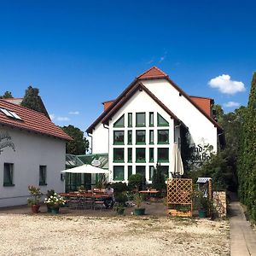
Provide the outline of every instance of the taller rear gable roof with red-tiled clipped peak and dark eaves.
[[[212,119],[211,115],[209,115],[207,112],[205,112],[204,110],[201,109],[201,107],[198,106],[198,104],[196,104],[190,97],[189,95],[187,95],[182,89],[180,89],[177,84],[175,84],[172,79],[169,78],[168,75],[166,75],[166,73],[164,73],[163,71],[160,70],[160,68],[158,67],[151,67],[149,68],[147,71],[145,71],[144,73],[140,74],[139,76],[137,76],[136,79],[134,79],[131,84],[113,101],[113,103],[108,105],[108,108],[93,122],[92,125],[90,125],[90,127],[86,130],[86,132],[91,133],[91,131],[95,128],[96,125],[98,125],[100,122],[102,122],[102,120],[104,119],[106,122],[105,117],[107,116],[108,113],[110,113],[112,111],[113,108],[115,108],[115,106],[119,103],[119,101],[121,101],[126,94],[134,87],[136,86],[136,84],[138,83],[138,81],[140,80],[144,80],[144,79],[166,79],[167,81],[169,81],[170,84],[172,84],[172,86],[180,93],[180,96],[184,96],[193,106],[195,106],[195,108],[197,108],[204,116],[207,117],[207,119],[209,119],[212,124],[218,128],[218,130],[223,131],[222,127],[220,125],[218,125],[218,123]],[[145,86],[144,86],[145,87]],[[148,90],[149,91],[149,90]],[[121,103],[120,103],[121,104]],[[170,110],[169,110],[170,111]]]

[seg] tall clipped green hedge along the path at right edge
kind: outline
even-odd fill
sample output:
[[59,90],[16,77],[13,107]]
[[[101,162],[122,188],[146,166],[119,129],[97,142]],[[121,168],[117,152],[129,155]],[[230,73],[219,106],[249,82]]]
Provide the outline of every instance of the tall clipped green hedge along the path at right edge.
[[239,197],[247,206],[250,217],[256,220],[256,73],[241,133],[238,165]]

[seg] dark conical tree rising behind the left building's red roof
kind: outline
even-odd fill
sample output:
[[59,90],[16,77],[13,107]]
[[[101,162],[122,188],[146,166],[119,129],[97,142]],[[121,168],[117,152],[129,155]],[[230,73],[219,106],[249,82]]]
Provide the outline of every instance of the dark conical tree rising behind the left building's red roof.
[[32,86],[28,86],[25,92],[25,96],[23,97],[21,106],[33,109],[40,113],[44,113],[47,117],[49,117],[46,109],[44,108],[44,104],[42,102],[41,97],[39,96],[38,88],[33,88]]

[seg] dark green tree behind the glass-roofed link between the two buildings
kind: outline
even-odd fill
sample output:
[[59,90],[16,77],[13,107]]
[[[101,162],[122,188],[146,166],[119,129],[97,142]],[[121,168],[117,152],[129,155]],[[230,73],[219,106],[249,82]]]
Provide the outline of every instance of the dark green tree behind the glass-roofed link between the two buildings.
[[85,154],[89,148],[89,141],[84,137],[84,132],[73,125],[61,127],[70,137],[73,137],[73,141],[66,144],[67,154]]

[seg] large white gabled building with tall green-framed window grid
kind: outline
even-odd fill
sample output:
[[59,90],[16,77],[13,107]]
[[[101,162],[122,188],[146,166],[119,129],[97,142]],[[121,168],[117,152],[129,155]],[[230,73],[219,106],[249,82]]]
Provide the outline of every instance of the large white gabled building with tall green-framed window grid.
[[213,100],[188,96],[158,67],[139,75],[90,125],[92,153],[108,153],[110,181],[125,181],[135,173],[150,183],[160,163],[172,172],[172,147],[186,129],[193,161],[207,160],[207,148],[217,152],[222,128],[212,118]]

